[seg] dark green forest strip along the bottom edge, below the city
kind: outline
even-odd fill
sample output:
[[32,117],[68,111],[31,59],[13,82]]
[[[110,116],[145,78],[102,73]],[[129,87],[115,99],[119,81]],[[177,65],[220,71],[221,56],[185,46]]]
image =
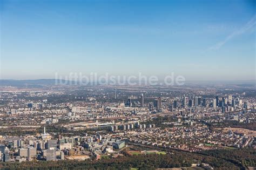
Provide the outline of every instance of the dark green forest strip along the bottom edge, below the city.
[[199,153],[174,151],[165,155],[125,155],[101,160],[5,162],[0,164],[0,169],[156,169],[190,167],[201,162],[210,164],[214,169],[246,169],[246,166],[256,166],[256,151],[255,149],[221,149]]

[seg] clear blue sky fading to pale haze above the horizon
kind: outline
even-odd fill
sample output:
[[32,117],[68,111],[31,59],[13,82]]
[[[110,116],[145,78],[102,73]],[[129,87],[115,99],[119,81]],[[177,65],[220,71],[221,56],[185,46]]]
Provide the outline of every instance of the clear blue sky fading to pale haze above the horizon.
[[1,1],[1,79],[255,79],[255,1]]

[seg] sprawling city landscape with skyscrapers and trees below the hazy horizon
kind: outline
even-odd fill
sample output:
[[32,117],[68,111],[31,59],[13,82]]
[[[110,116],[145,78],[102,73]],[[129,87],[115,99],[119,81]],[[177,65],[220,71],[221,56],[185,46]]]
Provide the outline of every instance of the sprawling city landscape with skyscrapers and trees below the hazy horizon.
[[6,82],[0,169],[256,167],[254,85]]

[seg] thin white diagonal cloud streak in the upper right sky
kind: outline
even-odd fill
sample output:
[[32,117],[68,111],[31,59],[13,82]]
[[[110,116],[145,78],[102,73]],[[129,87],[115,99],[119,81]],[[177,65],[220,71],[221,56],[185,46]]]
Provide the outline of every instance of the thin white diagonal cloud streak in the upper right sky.
[[244,26],[242,26],[241,29],[232,32],[223,41],[218,42],[217,44],[209,47],[208,50],[218,50],[218,49],[220,49],[220,47],[223,46],[224,44],[226,44],[230,39],[232,39],[235,36],[238,36],[238,35],[241,35],[241,34],[247,32],[248,30],[253,28],[254,25],[256,25],[256,15],[254,15],[249,22],[247,22]]

